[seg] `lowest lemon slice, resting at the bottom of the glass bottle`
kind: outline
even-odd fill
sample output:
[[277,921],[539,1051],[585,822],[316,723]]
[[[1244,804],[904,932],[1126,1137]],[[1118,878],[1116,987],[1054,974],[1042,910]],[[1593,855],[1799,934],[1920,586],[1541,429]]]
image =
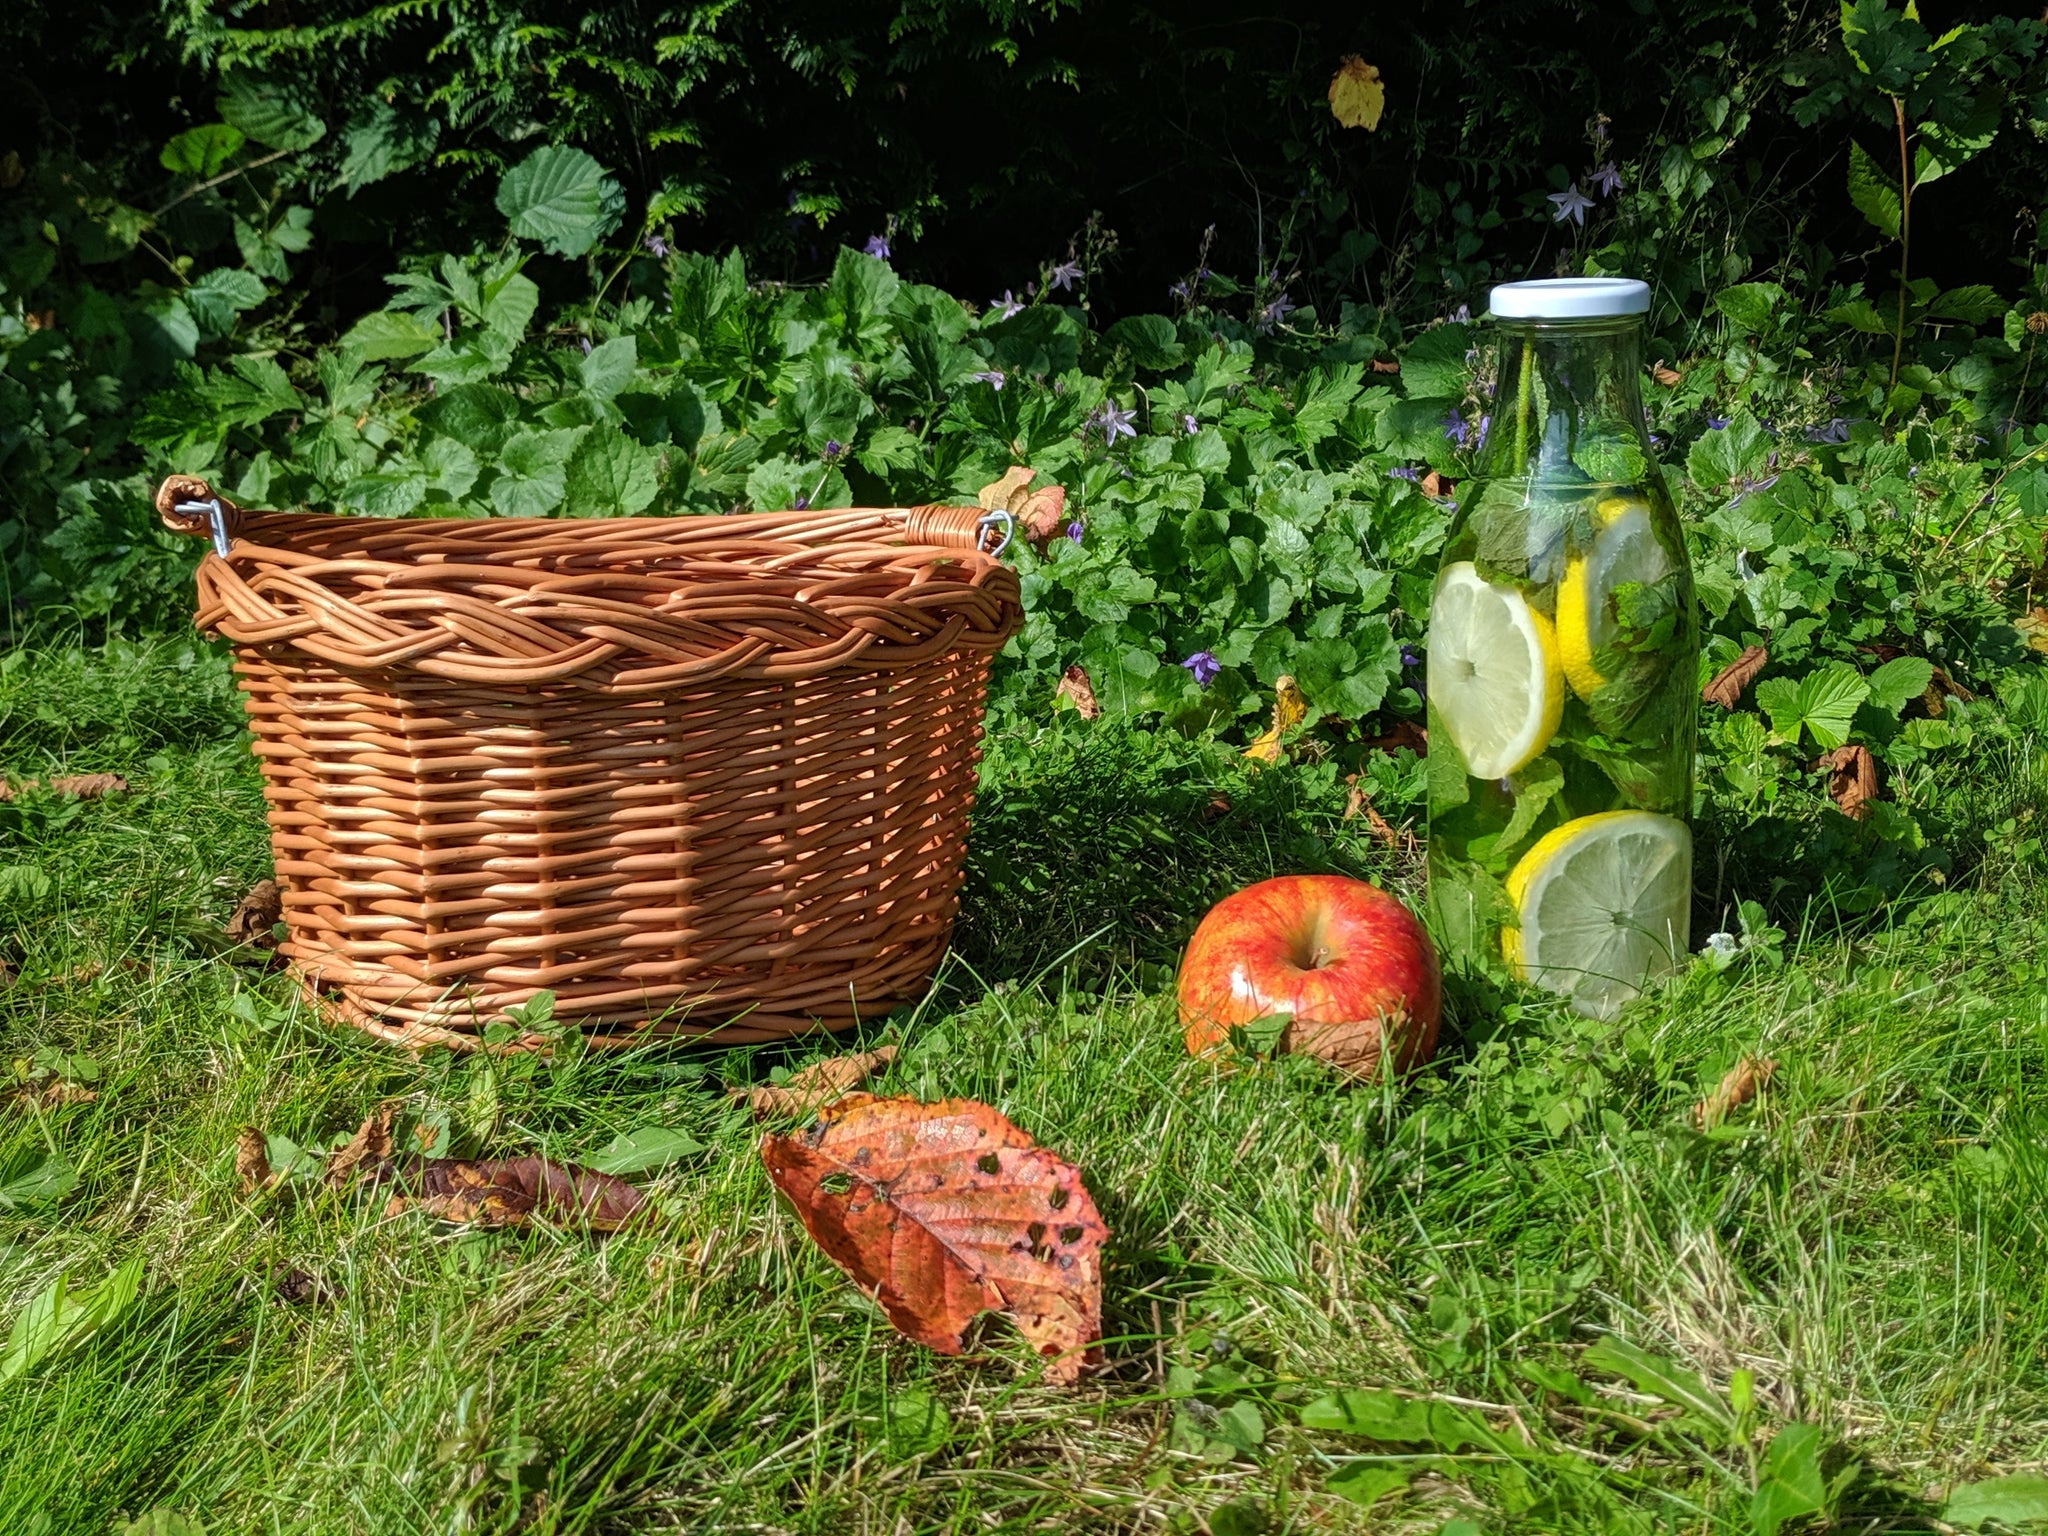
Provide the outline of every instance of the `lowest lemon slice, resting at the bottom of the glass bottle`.
[[1651,811],[1567,821],[1507,874],[1522,928],[1501,954],[1524,981],[1614,1018],[1692,946],[1692,831]]

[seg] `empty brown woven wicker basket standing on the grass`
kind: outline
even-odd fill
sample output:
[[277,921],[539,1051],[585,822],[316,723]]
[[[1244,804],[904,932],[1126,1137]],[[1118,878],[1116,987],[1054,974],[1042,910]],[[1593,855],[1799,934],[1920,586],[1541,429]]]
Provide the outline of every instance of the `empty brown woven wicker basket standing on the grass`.
[[1022,618],[983,512],[158,512],[211,526],[283,954],[350,1022],[467,1049],[545,989],[592,1042],[756,1042],[924,993]]

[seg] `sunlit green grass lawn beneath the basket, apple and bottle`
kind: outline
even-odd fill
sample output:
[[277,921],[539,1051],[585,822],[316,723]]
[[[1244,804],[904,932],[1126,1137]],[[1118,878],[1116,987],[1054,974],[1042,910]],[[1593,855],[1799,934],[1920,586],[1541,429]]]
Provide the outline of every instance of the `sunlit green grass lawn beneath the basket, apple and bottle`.
[[[0,1184],[51,1155],[80,1174],[0,1208],[0,1311],[61,1270],[147,1266],[113,1327],[0,1386],[4,1532],[150,1509],[322,1536],[1751,1532],[1755,1458],[1794,1419],[1823,1473],[1855,1464],[1845,1528],[1937,1530],[1952,1483],[2048,1458],[2048,907],[2025,858],[1853,924],[1780,913],[1782,965],[1702,963],[1612,1026],[1462,987],[1430,1071],[1341,1090],[1311,1063],[1186,1061],[1169,987],[1245,879],[1409,879],[1341,821],[1327,764],[1251,778],[1077,723],[991,743],[961,954],[866,1034],[903,1044],[887,1090],[983,1098],[1085,1169],[1114,1233],[1110,1368],[1057,1391],[999,1323],[975,1358],[897,1339],[776,1208],[721,1090],[838,1044],[422,1061],[223,958],[209,934],[268,852],[203,649],[10,657],[0,768],[137,786],[0,807],[6,1059],[100,1067],[90,1104],[0,1110]],[[2025,754],[1982,795],[2001,817],[2044,799]],[[1741,1055],[1778,1075],[1702,1135],[1690,1106]],[[575,1157],[647,1124],[707,1151],[612,1239],[238,1192],[238,1126],[311,1141],[385,1098],[444,1110],[463,1151]],[[293,1272],[326,1294],[285,1300]],[[1581,1358],[1610,1333],[1698,1372],[1708,1409]],[[1366,1386],[1495,1438],[1300,1425]],[[1372,1466],[1407,1493],[1327,1491]]]

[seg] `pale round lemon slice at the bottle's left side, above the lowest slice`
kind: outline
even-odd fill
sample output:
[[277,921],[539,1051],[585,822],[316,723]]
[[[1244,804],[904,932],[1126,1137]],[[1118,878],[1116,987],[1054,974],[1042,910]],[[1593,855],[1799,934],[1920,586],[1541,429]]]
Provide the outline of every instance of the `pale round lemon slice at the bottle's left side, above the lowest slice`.
[[1550,745],[1565,674],[1550,621],[1468,559],[1446,565],[1430,608],[1430,705],[1473,778],[1505,778]]

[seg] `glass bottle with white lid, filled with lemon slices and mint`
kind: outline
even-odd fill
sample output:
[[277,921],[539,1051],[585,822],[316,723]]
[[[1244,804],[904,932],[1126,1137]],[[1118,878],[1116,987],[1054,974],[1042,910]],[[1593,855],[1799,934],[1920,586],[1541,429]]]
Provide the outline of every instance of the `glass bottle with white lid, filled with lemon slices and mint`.
[[1700,627],[1628,279],[1493,289],[1499,371],[1430,612],[1430,903],[1450,967],[1612,1018],[1690,948]]

